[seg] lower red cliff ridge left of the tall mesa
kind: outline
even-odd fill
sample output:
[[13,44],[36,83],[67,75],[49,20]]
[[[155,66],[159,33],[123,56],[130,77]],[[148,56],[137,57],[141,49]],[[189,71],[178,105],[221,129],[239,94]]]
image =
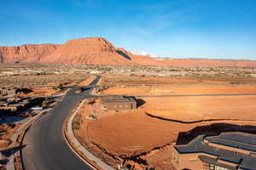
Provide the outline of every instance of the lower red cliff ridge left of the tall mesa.
[[55,52],[60,45],[40,44],[0,47],[1,62],[38,62],[41,58]]

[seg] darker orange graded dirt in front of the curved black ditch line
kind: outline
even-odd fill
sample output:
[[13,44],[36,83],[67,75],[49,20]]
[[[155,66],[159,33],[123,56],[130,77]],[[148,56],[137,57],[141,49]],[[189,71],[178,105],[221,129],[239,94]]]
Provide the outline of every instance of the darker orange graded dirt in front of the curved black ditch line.
[[92,140],[110,150],[112,154],[131,156],[175,142],[179,132],[211,123],[168,122],[143,113],[133,113],[90,122],[87,133]]

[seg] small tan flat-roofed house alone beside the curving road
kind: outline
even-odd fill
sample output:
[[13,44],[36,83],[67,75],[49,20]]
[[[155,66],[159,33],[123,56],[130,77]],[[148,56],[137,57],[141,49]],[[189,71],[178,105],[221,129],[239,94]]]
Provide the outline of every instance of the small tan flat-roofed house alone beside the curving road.
[[137,101],[132,96],[102,97],[102,107],[110,111],[125,111],[137,109]]

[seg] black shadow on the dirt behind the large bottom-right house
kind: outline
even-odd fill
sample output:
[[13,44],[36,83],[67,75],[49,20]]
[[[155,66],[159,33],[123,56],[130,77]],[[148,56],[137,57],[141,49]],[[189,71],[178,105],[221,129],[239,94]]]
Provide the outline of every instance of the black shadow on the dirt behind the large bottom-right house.
[[220,133],[241,132],[256,134],[256,127],[251,125],[236,125],[230,123],[212,123],[207,126],[195,127],[188,132],[178,133],[177,144],[188,144],[198,135],[218,135]]

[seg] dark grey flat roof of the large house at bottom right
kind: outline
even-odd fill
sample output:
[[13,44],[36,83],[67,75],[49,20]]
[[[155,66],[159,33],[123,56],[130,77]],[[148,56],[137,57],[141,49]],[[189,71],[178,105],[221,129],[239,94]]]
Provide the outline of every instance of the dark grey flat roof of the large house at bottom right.
[[[235,163],[241,169],[245,170],[256,169],[256,157],[210,146],[204,142],[205,139],[212,143],[223,144],[234,148],[242,148],[251,151],[256,150],[256,135],[248,133],[221,133],[218,136],[211,137],[200,135],[189,142],[189,144],[176,145],[175,149],[181,154],[206,153],[208,155],[218,156],[219,160]],[[201,160],[209,161],[210,159],[207,157],[201,157]],[[215,161],[215,164],[217,165],[218,161]]]

